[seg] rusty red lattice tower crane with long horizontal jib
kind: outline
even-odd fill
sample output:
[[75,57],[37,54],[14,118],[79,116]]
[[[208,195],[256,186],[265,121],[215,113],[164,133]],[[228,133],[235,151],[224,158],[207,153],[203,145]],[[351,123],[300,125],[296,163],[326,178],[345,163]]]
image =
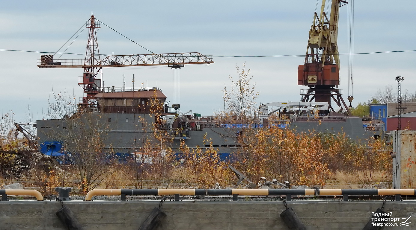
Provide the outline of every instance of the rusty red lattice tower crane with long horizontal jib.
[[[78,84],[84,89],[81,108],[98,107],[95,95],[102,91],[101,75],[104,67],[127,66],[169,66],[172,69],[181,68],[186,64],[211,64],[211,56],[204,56],[198,52],[171,53],[171,54],[131,54],[109,55],[101,59],[97,43],[97,28],[100,28],[99,20],[94,15],[87,21],[89,37],[85,59],[53,59],[53,55],[43,54],[38,60],[39,68],[83,68],[84,75],[80,77]],[[100,75],[100,77],[98,77]]]

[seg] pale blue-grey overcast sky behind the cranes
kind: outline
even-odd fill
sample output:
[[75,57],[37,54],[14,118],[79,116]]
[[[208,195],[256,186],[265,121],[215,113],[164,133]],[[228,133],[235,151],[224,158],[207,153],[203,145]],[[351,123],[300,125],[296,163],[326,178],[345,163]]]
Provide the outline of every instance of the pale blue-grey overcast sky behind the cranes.
[[[327,1],[330,2],[330,1]],[[416,2],[411,0],[349,0],[354,6],[354,53],[416,50]],[[353,3],[353,4],[351,4]],[[319,5],[318,3],[318,11]],[[228,1],[3,1],[0,7],[0,49],[53,52],[67,42],[91,13],[108,26],[154,53],[200,52],[213,56],[305,55],[315,0]],[[340,9],[339,52],[348,53],[348,6]],[[328,12],[329,13],[329,12]],[[85,53],[84,29],[66,50]],[[147,54],[140,46],[102,25],[97,32],[101,54]],[[64,48],[66,49],[66,48]],[[64,51],[64,50],[61,50]],[[55,55],[55,58],[59,55]],[[62,59],[82,59],[64,54]],[[78,86],[82,69],[40,69],[40,53],[0,51],[0,107],[15,112],[18,122],[42,119],[54,92],[83,96]],[[228,76],[236,65],[250,69],[258,104],[300,101],[297,68],[303,57],[214,58],[214,64],[189,65],[178,71],[179,103],[186,112],[212,115],[222,110]],[[341,56],[344,100],[353,92],[353,106],[367,102],[378,88],[415,93],[416,52],[354,55],[353,88],[349,86],[348,56]],[[173,103],[173,70],[168,67],[127,67],[103,70],[105,86],[157,86]],[[353,89],[353,91],[352,91]],[[29,112],[30,111],[30,112]]]

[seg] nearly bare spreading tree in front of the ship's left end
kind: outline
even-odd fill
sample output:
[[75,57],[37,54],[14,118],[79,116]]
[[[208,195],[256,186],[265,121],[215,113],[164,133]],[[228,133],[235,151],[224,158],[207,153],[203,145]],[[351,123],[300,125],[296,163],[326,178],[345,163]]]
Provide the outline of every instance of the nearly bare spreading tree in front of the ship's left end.
[[106,144],[111,129],[108,118],[105,114],[77,110],[75,98],[66,93],[52,93],[49,106],[49,120],[42,120],[38,135],[62,146],[61,160],[74,166],[82,181],[81,189],[88,192],[118,169],[111,166],[116,162],[114,151]]

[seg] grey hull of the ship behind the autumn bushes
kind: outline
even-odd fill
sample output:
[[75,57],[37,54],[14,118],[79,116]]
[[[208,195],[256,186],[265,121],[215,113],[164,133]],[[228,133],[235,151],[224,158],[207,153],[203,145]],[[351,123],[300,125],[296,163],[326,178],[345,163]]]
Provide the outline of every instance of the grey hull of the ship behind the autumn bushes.
[[[215,124],[205,125],[200,130],[189,130],[183,134],[176,134],[173,130],[161,129],[154,131],[154,115],[126,114],[126,113],[86,113],[82,115],[82,125],[73,119],[37,120],[37,135],[39,137],[40,152],[52,156],[62,155],[62,143],[67,143],[69,132],[77,130],[95,129],[105,136],[104,149],[116,154],[129,154],[138,151],[155,139],[156,135],[171,139],[169,147],[174,152],[181,152],[180,142],[183,141],[189,149],[206,149],[214,147],[222,157],[233,154],[238,149],[237,132],[239,128],[221,127]],[[358,117],[346,117],[339,122],[300,121],[284,125],[297,132],[331,132],[335,135],[344,132],[352,139],[366,139],[381,132],[364,130],[362,120]],[[166,127],[165,127],[166,128]],[[261,127],[256,127],[261,128]],[[80,135],[80,138],[83,138]],[[209,139],[205,141],[204,139]],[[150,141],[151,142],[151,141]]]

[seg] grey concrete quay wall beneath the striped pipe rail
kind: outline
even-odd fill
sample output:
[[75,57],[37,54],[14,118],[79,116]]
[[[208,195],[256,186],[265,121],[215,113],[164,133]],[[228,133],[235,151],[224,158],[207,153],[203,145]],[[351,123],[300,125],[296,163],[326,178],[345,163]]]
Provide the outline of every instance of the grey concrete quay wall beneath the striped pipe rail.
[[[85,230],[137,230],[159,201],[64,202]],[[308,230],[362,230],[382,201],[290,201]],[[0,201],[0,229],[64,230],[55,212],[58,201]],[[279,214],[281,201],[164,201],[167,217],[159,230],[287,230]],[[412,215],[410,226],[383,230],[415,229],[416,201],[387,201],[392,215]],[[408,222],[409,222],[408,221]],[[400,223],[400,222],[393,222]]]

